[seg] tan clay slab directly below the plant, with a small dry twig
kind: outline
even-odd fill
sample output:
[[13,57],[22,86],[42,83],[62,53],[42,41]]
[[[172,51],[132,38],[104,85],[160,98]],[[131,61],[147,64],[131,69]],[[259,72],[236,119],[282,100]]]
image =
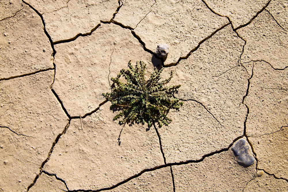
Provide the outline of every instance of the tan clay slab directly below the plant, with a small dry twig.
[[[122,127],[106,103],[90,116],[72,119],[43,170],[65,180],[70,190],[98,190],[164,164],[154,129]],[[83,128],[83,130],[82,130]],[[122,130],[122,131],[121,131]]]

